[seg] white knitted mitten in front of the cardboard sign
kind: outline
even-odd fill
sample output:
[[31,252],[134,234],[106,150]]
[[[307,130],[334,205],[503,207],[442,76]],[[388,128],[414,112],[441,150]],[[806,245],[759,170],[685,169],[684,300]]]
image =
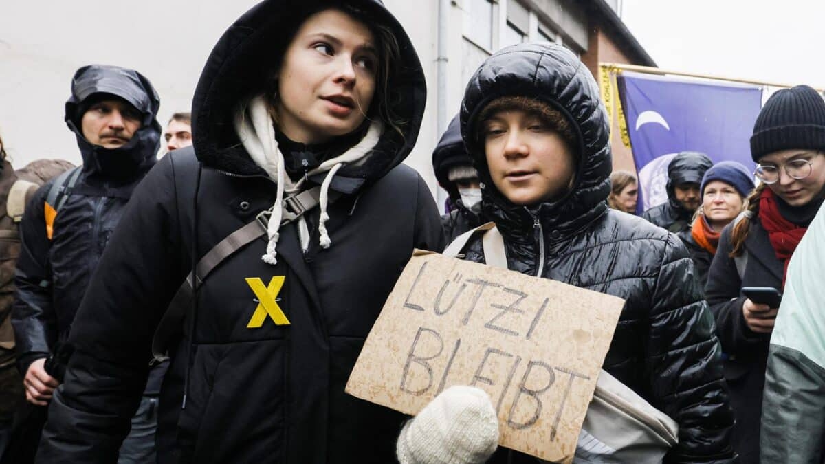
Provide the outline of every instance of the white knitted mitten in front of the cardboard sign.
[[498,444],[498,418],[487,393],[451,386],[410,419],[395,447],[401,464],[480,464]]

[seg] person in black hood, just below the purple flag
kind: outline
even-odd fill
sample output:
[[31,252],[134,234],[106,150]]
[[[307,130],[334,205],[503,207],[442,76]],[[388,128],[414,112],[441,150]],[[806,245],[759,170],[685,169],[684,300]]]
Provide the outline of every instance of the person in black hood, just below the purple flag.
[[642,217],[674,234],[690,229],[702,204],[699,186],[713,161],[698,151],[683,151],[667,165],[667,201],[644,211]]

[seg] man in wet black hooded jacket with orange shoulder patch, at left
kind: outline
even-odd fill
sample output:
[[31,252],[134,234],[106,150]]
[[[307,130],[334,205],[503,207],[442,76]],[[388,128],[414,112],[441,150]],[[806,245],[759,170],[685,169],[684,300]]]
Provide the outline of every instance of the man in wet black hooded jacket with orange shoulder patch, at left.
[[[156,162],[159,106],[152,84],[134,70],[91,65],[74,74],[64,119],[77,137],[82,167],[40,187],[21,222],[12,325],[31,408],[29,433],[9,450],[16,453],[12,462],[33,460],[46,406],[60,394],[55,389],[72,353],[64,341],[74,315],[132,190]],[[148,347],[146,354],[148,362]],[[153,369],[120,462],[154,462],[162,376]],[[31,426],[38,421],[40,427]]]

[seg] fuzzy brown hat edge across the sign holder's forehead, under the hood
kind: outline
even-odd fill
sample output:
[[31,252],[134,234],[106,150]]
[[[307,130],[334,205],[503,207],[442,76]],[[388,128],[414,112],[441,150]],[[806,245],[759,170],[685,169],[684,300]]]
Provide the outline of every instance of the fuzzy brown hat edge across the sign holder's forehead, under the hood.
[[515,110],[526,111],[540,117],[541,121],[549,125],[551,130],[562,136],[568,145],[568,149],[570,149],[570,153],[573,154],[575,159],[578,159],[580,154],[578,153],[576,131],[573,130],[573,124],[560,111],[550,107],[549,104],[530,97],[498,97],[493,102],[489,102],[479,114],[479,122],[474,130],[476,140],[480,143],[483,139],[482,125],[484,121],[487,121],[499,111]]

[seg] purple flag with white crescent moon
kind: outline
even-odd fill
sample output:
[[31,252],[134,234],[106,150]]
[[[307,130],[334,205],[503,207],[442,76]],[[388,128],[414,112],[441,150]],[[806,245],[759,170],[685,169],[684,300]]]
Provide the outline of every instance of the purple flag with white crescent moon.
[[667,164],[681,151],[756,168],[750,139],[761,88],[629,72],[617,82],[639,173],[639,212],[667,201]]

